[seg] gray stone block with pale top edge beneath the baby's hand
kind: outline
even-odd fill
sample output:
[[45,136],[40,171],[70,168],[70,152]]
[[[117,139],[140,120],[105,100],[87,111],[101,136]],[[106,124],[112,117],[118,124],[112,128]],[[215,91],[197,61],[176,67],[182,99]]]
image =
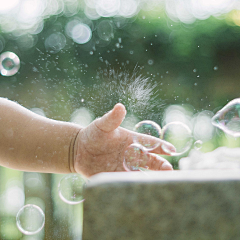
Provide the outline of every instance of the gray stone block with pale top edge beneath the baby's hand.
[[102,173],[85,199],[83,240],[240,239],[240,171]]

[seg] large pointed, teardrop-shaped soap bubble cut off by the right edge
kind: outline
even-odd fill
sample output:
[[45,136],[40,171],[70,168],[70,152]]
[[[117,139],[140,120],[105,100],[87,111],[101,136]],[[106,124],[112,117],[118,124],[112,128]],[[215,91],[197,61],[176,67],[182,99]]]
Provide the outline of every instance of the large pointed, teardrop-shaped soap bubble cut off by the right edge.
[[233,137],[240,137],[240,98],[236,98],[218,111],[212,124]]

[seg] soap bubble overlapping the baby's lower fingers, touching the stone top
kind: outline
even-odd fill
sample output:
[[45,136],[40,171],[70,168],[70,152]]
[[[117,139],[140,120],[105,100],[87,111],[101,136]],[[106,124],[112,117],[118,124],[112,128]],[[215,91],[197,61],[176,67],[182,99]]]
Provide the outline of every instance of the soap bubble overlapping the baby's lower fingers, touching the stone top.
[[126,171],[148,169],[147,162],[147,151],[145,151],[142,145],[133,143],[127,147],[123,160],[123,167]]

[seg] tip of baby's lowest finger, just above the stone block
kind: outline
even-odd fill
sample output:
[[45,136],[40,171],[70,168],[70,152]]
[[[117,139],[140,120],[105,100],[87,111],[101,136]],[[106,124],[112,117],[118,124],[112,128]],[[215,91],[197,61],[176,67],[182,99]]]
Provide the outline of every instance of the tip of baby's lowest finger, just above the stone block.
[[173,170],[170,162],[154,153],[149,153],[149,161],[147,162],[147,166],[150,170],[155,171]]

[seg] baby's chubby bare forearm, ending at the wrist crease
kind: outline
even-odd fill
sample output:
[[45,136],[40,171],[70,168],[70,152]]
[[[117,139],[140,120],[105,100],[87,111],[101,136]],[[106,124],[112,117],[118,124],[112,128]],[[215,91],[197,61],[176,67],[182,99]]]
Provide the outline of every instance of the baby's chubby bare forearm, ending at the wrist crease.
[[0,165],[32,172],[70,173],[81,127],[39,116],[0,98]]

